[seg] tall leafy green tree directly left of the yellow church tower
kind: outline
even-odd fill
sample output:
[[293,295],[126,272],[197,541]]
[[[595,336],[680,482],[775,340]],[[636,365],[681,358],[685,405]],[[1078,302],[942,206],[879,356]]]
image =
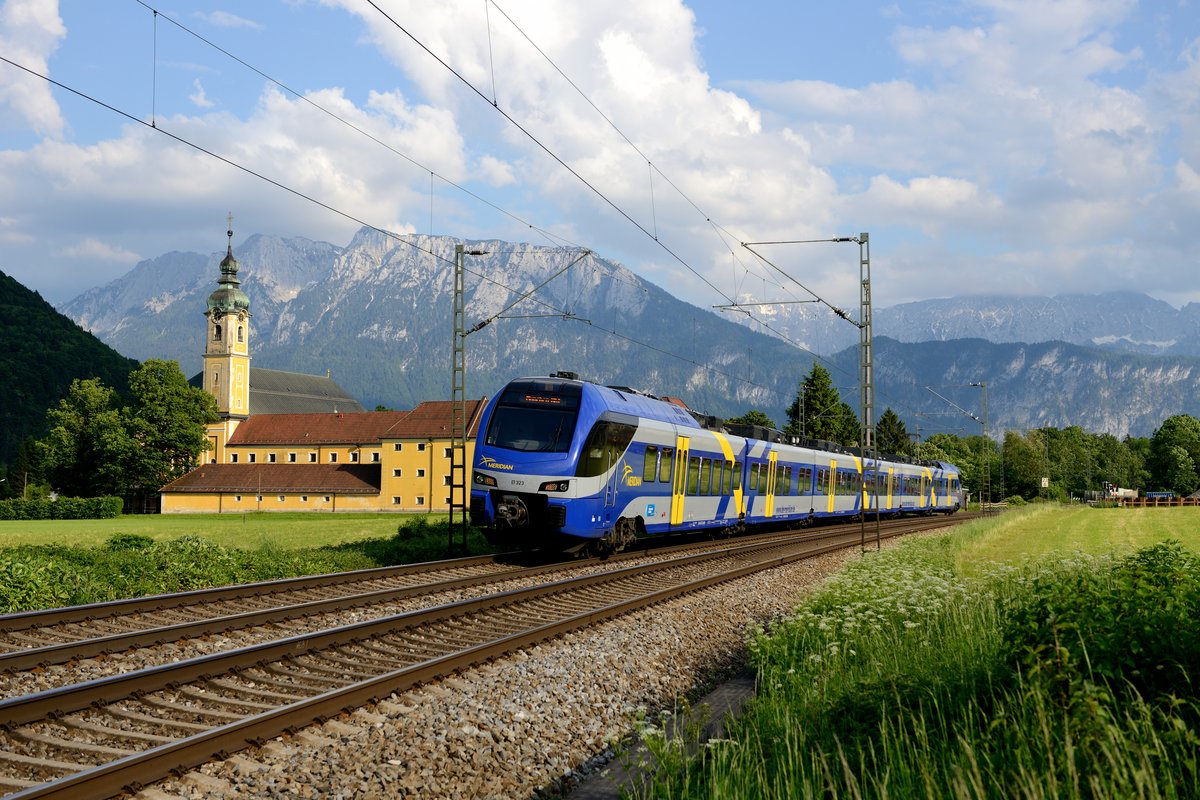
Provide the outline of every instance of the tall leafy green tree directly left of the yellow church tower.
[[154,495],[193,469],[208,450],[204,426],[217,420],[216,399],[187,383],[175,361],[151,359],[130,374],[132,402],[125,426],[137,444],[126,481],[134,494]]

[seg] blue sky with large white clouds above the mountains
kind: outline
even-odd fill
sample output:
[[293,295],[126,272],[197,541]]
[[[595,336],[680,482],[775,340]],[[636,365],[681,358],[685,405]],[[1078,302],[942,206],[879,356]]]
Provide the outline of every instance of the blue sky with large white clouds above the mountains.
[[[578,243],[701,306],[808,296],[740,242],[859,231],[877,306],[1200,301],[1193,0],[377,5],[5,0],[0,55],[120,113],[0,62],[0,270],[62,302],[232,211]],[[857,302],[856,249],[758,249]]]

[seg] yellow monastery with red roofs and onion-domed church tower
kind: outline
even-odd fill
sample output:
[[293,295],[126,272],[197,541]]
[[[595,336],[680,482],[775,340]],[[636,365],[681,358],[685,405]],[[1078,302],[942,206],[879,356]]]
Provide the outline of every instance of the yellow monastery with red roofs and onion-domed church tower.
[[[233,233],[209,296],[204,372],[217,399],[209,461],[162,488],[163,513],[446,511],[454,408],[365,411],[325,375],[250,366],[250,297]],[[467,457],[485,399],[467,403]]]

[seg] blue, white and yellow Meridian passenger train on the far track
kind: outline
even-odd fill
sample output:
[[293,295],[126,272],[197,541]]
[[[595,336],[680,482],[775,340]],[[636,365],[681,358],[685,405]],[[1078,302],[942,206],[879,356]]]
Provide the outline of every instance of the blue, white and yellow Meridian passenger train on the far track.
[[638,536],[962,505],[953,464],[737,433],[751,432],[572,373],[514,380],[480,420],[472,522],[505,547],[617,552]]

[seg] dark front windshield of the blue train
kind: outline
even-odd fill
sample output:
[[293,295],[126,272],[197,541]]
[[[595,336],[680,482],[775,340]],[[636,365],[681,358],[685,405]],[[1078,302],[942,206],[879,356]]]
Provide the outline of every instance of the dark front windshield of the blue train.
[[577,385],[510,384],[492,411],[485,441],[506,450],[566,452],[580,414],[580,395]]

